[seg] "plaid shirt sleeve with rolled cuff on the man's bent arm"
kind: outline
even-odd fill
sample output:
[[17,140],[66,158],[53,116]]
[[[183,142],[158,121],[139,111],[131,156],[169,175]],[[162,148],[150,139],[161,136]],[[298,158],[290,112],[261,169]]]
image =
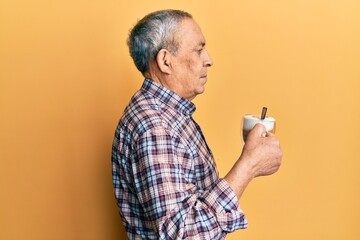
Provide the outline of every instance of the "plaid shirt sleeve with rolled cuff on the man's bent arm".
[[224,179],[199,189],[184,176],[175,139],[163,128],[143,134],[132,163],[146,220],[160,239],[221,239],[247,227],[238,199]]

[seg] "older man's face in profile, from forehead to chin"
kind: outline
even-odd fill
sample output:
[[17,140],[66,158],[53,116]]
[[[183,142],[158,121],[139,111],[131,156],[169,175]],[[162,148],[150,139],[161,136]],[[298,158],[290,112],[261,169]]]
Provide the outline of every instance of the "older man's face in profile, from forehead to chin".
[[176,33],[179,48],[172,57],[177,93],[189,100],[205,90],[207,68],[213,62],[205,48],[205,37],[193,19],[185,19]]

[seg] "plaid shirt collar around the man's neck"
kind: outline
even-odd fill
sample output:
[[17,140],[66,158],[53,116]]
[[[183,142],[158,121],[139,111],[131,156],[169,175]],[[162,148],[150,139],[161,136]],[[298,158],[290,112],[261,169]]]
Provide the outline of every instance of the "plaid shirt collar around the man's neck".
[[151,79],[146,78],[141,89],[150,93],[167,106],[172,107],[187,116],[191,116],[196,110],[194,103],[183,97],[180,97],[175,92],[161,86]]

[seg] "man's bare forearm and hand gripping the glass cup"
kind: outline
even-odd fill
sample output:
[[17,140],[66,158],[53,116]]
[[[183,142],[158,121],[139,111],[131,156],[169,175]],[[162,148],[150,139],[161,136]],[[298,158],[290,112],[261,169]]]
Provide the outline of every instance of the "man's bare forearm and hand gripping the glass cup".
[[253,178],[275,173],[281,158],[279,141],[272,133],[267,133],[263,125],[257,124],[250,132],[240,158],[224,179],[240,199]]

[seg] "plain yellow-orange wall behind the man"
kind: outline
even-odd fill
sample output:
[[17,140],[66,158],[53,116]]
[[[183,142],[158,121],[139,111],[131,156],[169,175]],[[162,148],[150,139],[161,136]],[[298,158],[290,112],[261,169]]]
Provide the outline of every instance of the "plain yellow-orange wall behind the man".
[[142,77],[125,44],[146,13],[179,8],[214,60],[195,118],[221,176],[241,117],[276,117],[280,171],[255,179],[249,228],[228,239],[360,236],[357,0],[1,0],[0,239],[126,239],[111,144]]

